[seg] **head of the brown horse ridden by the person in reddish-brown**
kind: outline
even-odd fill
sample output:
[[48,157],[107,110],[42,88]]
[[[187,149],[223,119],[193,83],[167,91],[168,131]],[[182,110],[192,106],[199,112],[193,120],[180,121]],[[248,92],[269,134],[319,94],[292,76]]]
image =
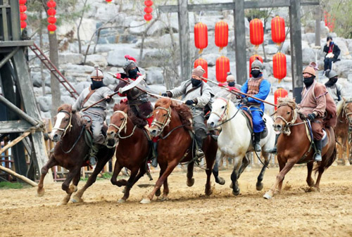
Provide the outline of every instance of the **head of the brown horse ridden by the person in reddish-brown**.
[[274,127],[275,132],[281,133],[287,131],[289,125],[294,124],[297,118],[294,98],[279,98],[277,100],[277,110],[274,115],[274,124],[272,124],[272,127]]

